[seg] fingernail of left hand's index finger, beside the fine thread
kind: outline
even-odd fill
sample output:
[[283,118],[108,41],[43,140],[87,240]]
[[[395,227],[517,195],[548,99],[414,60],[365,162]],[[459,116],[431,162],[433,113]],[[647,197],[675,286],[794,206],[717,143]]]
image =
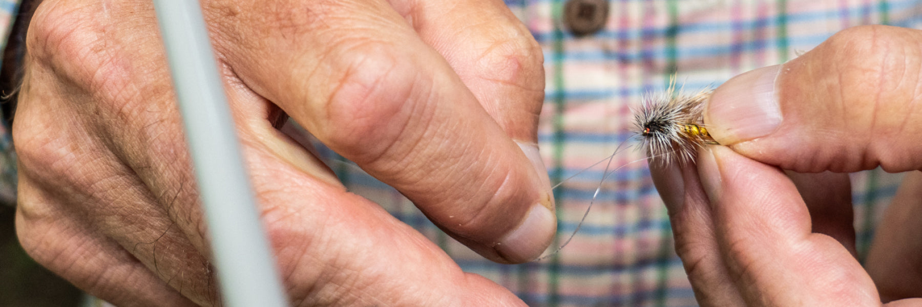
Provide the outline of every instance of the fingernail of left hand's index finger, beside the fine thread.
[[550,209],[536,204],[528,210],[522,225],[493,246],[503,259],[519,264],[538,258],[557,232],[557,218]]

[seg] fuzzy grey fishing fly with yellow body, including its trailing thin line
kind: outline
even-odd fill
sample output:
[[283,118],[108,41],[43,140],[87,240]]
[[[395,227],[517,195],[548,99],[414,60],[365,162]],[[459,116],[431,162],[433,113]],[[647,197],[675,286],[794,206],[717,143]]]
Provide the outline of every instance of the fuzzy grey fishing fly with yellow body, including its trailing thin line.
[[[718,144],[714,138],[711,137],[711,134],[707,132],[703,120],[704,102],[711,98],[713,90],[702,89],[694,94],[685,94],[681,89],[678,91],[676,90],[675,81],[675,77],[670,78],[669,87],[666,89],[666,92],[660,93],[659,95],[647,95],[644,97],[639,108],[632,108],[634,128],[636,129],[633,132],[635,133],[634,136],[641,137],[641,141],[643,142],[642,148],[646,151],[646,158],[644,159],[651,159],[656,163],[686,164],[695,158],[698,148],[707,144]],[[629,139],[630,138],[632,137],[629,137]],[[539,257],[535,261],[543,260],[557,254],[564,246],[573,240],[573,236],[576,235],[576,232],[579,232],[585,218],[589,215],[589,210],[592,208],[593,203],[596,202],[596,197],[602,189],[602,183],[605,183],[609,175],[633,162],[644,160],[633,160],[609,171],[611,160],[621,151],[625,143],[627,143],[627,140],[621,142],[621,145],[615,148],[615,151],[612,152],[609,157],[583,170],[589,170],[597,164],[608,160],[605,171],[602,172],[602,180],[598,183],[598,187],[596,188],[596,193],[592,195],[592,200],[589,201],[589,207],[586,207],[583,218],[580,219],[579,224],[576,224],[576,229],[573,230],[570,237],[567,238],[560,247],[550,254]],[[561,183],[557,183],[554,188],[583,171],[579,171],[573,174],[573,176],[564,179]]]

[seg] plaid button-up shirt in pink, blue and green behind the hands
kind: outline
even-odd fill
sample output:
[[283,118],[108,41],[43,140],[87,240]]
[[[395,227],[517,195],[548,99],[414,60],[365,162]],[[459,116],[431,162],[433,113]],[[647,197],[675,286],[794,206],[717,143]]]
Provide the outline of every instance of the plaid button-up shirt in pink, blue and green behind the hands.
[[[922,27],[919,0],[612,0],[603,30],[574,37],[563,25],[564,3],[506,0],[545,54],[539,140],[551,181],[573,176],[554,190],[560,221],[555,246],[576,228],[599,186],[605,163],[590,166],[621,142],[636,143],[627,140],[630,108],[645,93],[665,89],[673,74],[685,89],[715,87],[745,71],[784,63],[845,28]],[[615,157],[612,165],[626,166],[601,184],[585,224],[560,254],[516,266],[484,260],[383,183],[357,168],[332,165],[351,191],[378,202],[467,272],[491,278],[529,306],[696,306],[646,162],[631,163],[642,158],[639,150]],[[880,170],[852,176],[862,258],[900,179]]]

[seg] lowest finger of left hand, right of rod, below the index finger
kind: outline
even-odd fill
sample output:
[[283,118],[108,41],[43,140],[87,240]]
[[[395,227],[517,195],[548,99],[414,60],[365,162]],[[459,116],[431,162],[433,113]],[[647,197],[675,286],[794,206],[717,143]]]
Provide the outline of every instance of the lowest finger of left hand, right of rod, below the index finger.
[[301,305],[525,306],[377,204],[259,148],[246,155],[279,270]]

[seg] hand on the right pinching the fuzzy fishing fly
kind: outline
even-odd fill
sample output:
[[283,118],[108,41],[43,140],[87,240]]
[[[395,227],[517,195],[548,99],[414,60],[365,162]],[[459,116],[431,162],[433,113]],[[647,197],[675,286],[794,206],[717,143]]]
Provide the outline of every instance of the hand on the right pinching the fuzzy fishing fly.
[[[702,305],[922,305],[920,42],[919,30],[845,30],[715,89],[704,121],[727,147],[654,170]],[[847,176],[763,163],[913,172],[863,268]]]

